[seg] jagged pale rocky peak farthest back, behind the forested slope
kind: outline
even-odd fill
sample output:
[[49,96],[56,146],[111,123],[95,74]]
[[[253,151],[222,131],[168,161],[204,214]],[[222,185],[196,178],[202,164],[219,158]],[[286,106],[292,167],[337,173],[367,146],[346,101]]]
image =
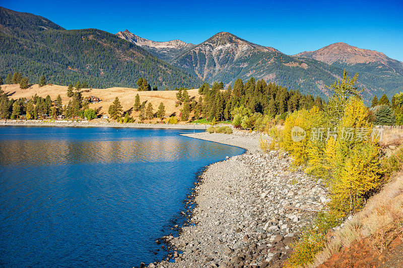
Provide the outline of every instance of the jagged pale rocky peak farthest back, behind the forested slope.
[[153,55],[167,62],[170,62],[173,58],[181,54],[184,50],[194,46],[191,43],[185,43],[181,40],[171,40],[166,42],[148,40],[130,33],[127,29],[123,32],[118,32],[116,35],[133,44],[143,47],[147,51],[151,52]]

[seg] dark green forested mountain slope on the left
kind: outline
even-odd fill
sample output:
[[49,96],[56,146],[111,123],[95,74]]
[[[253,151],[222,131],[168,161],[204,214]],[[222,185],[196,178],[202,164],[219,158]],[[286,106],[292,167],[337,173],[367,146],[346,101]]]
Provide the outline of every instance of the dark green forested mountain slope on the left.
[[64,30],[33,14],[0,7],[0,75],[22,72],[36,83],[86,81],[92,87],[137,87],[142,76],[159,88],[198,86],[201,80],[140,46],[97,29]]

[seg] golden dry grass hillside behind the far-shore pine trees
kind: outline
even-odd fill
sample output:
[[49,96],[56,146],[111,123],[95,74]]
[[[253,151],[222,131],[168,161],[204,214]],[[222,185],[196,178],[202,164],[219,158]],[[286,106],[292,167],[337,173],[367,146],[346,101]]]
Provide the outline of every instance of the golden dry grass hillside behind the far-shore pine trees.
[[[63,105],[69,103],[70,98],[67,97],[67,86],[62,85],[44,85],[39,87],[38,84],[31,85],[26,90],[22,90],[19,84],[4,84],[2,89],[8,94],[9,98],[17,100],[19,98],[30,99],[37,94],[40,97],[45,98],[47,95],[52,100],[56,100],[57,95],[60,95]],[[196,98],[196,101],[200,97],[197,93],[198,90],[189,90],[190,100]],[[154,112],[157,112],[158,106],[161,102],[165,105],[166,116],[176,115],[179,116],[182,107],[175,107],[176,93],[177,91],[137,91],[136,88],[127,87],[111,87],[111,88],[86,88],[82,90],[83,97],[96,96],[102,101],[95,104],[90,104],[90,108],[97,110],[98,114],[103,115],[108,113],[108,108],[112,104],[113,100],[118,97],[123,111],[128,111],[133,107],[135,103],[136,94],[140,96],[140,102],[147,101],[152,103]],[[138,117],[139,112],[132,111],[131,116]]]

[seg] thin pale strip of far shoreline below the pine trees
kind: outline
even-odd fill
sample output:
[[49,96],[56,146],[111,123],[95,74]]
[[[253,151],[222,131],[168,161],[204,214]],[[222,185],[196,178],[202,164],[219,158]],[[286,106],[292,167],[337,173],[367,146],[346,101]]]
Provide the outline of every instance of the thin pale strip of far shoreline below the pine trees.
[[207,129],[201,124],[139,124],[113,122],[73,122],[73,121],[33,121],[33,120],[0,120],[0,126],[48,126],[48,127],[115,127],[115,128],[164,128],[164,129]]

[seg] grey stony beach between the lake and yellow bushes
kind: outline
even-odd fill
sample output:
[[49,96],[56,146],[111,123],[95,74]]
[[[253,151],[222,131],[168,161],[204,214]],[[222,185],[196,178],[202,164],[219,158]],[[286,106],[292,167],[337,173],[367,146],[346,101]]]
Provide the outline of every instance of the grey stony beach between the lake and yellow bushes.
[[164,237],[176,251],[148,267],[280,267],[323,209],[326,188],[289,157],[259,151],[258,134],[183,135],[247,151],[206,168],[186,204],[188,224]]

